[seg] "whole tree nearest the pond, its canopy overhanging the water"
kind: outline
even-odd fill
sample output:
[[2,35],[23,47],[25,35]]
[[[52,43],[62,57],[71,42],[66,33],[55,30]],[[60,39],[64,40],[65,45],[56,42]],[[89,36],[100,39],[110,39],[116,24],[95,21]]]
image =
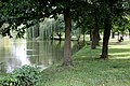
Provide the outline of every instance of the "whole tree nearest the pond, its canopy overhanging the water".
[[[37,22],[43,20],[46,17],[56,19],[58,14],[64,15],[65,22],[65,48],[64,48],[64,66],[72,66],[70,49],[70,32],[72,32],[72,15],[77,11],[80,12],[82,3],[86,0],[6,0],[1,13],[1,20],[10,24],[12,30],[17,31],[18,38],[25,33],[25,28],[35,25]],[[17,26],[25,25],[24,28],[17,29]],[[9,28],[8,28],[9,29]]]

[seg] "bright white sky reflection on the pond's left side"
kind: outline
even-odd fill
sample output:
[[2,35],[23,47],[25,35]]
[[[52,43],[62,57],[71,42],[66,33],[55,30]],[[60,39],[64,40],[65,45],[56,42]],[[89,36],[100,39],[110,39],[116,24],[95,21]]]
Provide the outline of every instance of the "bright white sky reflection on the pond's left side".
[[1,39],[0,70],[2,72],[11,72],[21,66],[29,64],[29,59],[26,57],[26,40],[14,40],[8,37]]

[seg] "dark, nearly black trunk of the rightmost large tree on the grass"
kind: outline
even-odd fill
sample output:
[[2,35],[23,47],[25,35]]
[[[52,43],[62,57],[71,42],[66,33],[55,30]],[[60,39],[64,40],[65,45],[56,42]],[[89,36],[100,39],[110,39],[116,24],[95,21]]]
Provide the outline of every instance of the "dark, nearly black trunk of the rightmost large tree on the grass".
[[108,58],[108,41],[110,35],[110,29],[112,29],[112,23],[110,23],[110,18],[107,16],[104,22],[104,38],[103,38],[103,48],[101,55],[101,59],[104,60]]

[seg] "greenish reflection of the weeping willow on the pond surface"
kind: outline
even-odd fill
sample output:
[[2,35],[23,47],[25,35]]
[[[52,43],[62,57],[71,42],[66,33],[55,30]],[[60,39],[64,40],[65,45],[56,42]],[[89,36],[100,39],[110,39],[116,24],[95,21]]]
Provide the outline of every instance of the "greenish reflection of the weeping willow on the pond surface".
[[63,46],[58,46],[58,41],[28,41],[27,56],[31,63],[48,67],[57,62],[63,56]]

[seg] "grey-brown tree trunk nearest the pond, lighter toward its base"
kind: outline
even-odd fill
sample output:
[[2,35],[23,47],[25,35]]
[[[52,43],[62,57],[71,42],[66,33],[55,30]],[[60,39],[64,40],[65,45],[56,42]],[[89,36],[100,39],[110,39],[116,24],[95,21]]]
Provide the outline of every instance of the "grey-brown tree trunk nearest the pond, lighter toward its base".
[[64,10],[64,20],[65,20],[65,46],[64,46],[64,62],[63,66],[73,66],[72,60],[72,48],[70,48],[70,32],[72,32],[72,18],[69,9]]

